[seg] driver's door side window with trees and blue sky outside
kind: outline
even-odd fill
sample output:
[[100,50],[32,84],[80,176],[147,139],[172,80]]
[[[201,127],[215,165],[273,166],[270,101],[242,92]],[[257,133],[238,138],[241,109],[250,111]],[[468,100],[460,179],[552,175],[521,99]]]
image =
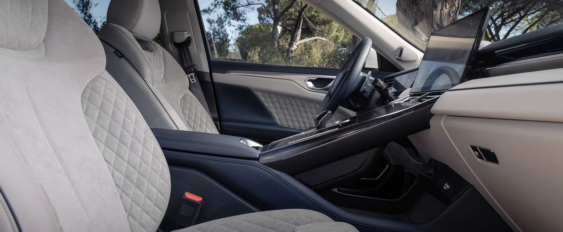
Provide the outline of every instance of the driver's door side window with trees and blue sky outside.
[[360,40],[301,1],[198,2],[217,60],[338,69]]

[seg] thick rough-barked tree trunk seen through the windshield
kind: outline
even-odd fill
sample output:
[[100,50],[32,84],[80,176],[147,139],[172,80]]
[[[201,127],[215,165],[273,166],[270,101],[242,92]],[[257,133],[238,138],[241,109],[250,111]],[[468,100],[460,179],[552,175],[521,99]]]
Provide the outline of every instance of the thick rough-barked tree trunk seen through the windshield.
[[461,0],[397,0],[398,31],[426,47],[430,34],[458,20]]

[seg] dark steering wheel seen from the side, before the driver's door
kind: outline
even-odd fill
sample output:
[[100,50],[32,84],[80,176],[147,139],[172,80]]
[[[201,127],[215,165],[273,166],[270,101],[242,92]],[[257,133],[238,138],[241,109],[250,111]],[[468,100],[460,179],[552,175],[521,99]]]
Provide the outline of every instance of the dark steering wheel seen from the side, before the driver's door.
[[360,40],[350,56],[346,58],[316,113],[315,127],[317,129],[324,128],[338,106],[348,99],[350,94],[361,84],[361,69],[364,67],[371,48],[372,39],[365,37]]

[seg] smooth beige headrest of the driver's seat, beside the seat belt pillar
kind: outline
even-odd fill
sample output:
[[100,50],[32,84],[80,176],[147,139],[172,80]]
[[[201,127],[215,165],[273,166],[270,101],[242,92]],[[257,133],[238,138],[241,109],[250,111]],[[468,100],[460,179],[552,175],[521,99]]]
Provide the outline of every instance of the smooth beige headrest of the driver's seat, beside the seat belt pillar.
[[138,40],[152,40],[160,29],[158,0],[113,0],[108,7],[108,23],[123,26]]

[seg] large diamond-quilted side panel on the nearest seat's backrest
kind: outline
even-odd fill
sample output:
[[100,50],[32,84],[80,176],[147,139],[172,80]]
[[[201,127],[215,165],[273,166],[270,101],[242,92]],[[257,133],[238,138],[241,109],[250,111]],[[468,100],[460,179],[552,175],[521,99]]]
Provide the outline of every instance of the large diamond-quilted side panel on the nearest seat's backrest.
[[166,211],[170,186],[156,139],[125,95],[100,77],[84,89],[82,107],[132,231],[154,231]]

